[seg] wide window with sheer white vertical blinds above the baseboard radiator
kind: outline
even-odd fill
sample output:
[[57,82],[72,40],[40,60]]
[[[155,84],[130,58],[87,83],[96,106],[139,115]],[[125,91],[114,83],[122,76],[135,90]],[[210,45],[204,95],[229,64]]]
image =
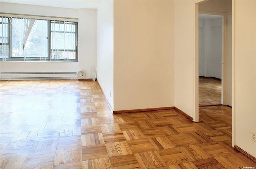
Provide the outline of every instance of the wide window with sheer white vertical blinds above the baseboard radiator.
[[77,22],[0,17],[1,61],[78,61]]

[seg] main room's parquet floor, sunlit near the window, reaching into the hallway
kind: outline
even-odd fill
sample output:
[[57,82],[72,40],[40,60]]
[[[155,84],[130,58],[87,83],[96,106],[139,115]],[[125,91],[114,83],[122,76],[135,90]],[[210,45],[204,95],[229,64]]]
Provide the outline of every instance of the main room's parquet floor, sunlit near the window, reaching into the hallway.
[[235,169],[231,108],[113,115],[94,81],[0,81],[1,169]]

